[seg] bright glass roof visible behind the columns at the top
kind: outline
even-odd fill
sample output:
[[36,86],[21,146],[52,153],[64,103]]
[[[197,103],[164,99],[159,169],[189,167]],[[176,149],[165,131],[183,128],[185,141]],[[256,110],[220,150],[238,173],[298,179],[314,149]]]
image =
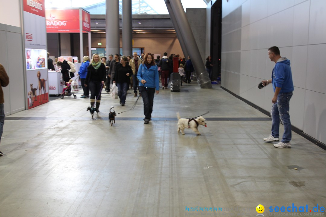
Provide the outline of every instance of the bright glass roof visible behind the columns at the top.
[[[91,3],[90,3],[91,2]],[[181,0],[187,7],[207,7],[204,0]],[[105,1],[103,0],[45,0],[45,7],[83,7],[91,14],[105,14]],[[119,13],[122,13],[122,0],[119,0]],[[132,0],[132,14],[169,14],[164,0]]]

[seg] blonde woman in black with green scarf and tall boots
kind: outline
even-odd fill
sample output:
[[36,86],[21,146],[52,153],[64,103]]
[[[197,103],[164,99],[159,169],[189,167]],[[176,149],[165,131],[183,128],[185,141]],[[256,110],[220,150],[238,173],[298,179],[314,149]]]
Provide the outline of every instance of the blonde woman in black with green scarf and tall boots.
[[85,87],[89,86],[89,90],[91,91],[91,106],[96,106],[97,112],[99,112],[98,108],[100,107],[101,96],[97,98],[97,96],[102,91],[102,85],[104,84],[106,76],[106,69],[100,57],[97,53],[93,54],[91,63],[87,67],[87,76],[85,80]]

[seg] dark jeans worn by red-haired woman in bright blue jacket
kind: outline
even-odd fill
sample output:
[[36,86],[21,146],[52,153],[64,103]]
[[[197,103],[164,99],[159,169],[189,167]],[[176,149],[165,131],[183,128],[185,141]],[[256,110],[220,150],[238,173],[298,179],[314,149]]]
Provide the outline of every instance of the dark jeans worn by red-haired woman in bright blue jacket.
[[141,93],[144,102],[144,121],[149,121],[149,119],[152,118],[155,88],[139,86],[139,92]]

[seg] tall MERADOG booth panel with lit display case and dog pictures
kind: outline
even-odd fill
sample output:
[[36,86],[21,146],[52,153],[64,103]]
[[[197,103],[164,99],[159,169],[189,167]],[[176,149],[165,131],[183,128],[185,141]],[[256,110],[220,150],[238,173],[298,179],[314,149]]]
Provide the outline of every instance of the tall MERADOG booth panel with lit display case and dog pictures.
[[23,7],[27,109],[49,102],[44,0],[40,2],[24,0]]

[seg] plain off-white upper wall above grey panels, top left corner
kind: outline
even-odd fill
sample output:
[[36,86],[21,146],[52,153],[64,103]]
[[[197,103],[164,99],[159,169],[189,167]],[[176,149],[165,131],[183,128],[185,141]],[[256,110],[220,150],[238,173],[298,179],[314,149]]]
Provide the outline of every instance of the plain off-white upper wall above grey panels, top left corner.
[[0,0],[0,23],[21,27],[19,0]]

